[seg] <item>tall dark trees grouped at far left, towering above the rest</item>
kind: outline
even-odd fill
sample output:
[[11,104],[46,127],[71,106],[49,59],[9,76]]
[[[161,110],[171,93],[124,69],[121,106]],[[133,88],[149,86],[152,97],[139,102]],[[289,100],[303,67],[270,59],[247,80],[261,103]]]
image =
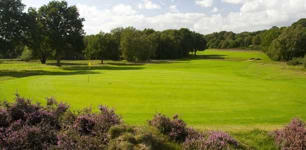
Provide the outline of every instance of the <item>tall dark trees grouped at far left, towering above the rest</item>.
[[53,57],[77,57],[84,49],[83,21],[75,5],[67,1],[50,1],[36,9],[24,11],[21,0],[0,1],[0,43],[5,58],[17,57],[25,46],[42,63]]

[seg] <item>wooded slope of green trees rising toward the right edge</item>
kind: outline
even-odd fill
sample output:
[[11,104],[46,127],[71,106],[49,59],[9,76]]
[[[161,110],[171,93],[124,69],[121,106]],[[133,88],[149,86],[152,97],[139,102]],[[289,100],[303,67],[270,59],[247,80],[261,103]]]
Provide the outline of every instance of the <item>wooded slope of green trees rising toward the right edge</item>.
[[262,50],[273,60],[288,61],[306,54],[306,18],[291,26],[254,32],[214,32],[205,35],[205,39],[207,47]]

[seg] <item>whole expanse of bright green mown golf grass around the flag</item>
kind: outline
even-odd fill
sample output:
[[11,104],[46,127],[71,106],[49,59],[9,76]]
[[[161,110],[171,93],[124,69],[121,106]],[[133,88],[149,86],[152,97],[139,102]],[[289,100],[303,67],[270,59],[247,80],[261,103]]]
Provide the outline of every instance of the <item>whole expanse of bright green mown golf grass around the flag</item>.
[[54,62],[0,60],[0,99],[11,101],[18,90],[42,103],[55,96],[72,109],[106,104],[130,124],[143,124],[155,112],[180,114],[195,126],[269,126],[295,116],[306,119],[305,72],[259,51],[209,49],[150,63],[94,60],[90,71],[88,60],[64,60],[61,67]]

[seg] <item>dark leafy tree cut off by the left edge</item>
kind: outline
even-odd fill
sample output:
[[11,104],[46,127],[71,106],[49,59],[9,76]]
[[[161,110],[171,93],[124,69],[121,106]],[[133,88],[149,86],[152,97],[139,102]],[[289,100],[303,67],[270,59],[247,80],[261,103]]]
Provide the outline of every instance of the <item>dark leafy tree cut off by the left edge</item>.
[[21,0],[0,0],[0,52],[10,58],[17,56],[22,51],[19,49],[23,49],[27,28],[24,8]]

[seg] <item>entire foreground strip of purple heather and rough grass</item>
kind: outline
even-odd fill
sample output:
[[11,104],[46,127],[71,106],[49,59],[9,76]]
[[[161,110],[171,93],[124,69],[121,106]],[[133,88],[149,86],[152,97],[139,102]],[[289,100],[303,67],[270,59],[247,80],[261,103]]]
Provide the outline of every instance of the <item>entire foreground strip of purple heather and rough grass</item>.
[[134,126],[106,105],[71,111],[55,97],[45,103],[19,94],[15,102],[1,103],[1,149],[304,149],[306,143],[305,124],[297,118],[270,133],[225,132],[192,128],[179,115],[156,113]]

